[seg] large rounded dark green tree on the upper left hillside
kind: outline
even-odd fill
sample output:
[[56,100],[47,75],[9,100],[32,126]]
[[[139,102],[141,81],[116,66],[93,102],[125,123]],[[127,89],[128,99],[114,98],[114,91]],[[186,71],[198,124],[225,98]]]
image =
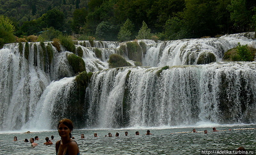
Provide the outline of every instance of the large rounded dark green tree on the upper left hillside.
[[60,30],[64,24],[64,13],[54,8],[42,15],[42,21],[45,22],[47,27]]

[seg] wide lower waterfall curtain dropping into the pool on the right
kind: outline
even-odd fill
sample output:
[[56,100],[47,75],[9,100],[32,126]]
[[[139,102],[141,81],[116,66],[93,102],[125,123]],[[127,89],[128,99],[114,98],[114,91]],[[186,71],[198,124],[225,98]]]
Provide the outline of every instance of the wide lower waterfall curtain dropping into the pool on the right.
[[88,126],[251,123],[256,117],[256,63],[221,62],[159,68],[123,67],[94,73]]

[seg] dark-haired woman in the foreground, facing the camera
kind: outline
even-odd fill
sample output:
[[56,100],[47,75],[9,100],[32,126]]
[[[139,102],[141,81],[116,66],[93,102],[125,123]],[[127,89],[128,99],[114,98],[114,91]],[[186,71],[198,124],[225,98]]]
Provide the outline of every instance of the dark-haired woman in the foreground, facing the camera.
[[56,155],[80,155],[76,141],[71,139],[71,131],[73,130],[73,122],[69,119],[59,121],[58,132],[61,140],[55,144]]

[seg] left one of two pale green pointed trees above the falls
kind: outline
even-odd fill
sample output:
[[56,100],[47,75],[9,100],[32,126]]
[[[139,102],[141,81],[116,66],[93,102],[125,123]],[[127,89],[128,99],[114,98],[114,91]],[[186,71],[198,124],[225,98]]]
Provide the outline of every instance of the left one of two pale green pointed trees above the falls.
[[127,19],[123,26],[121,26],[120,31],[118,33],[117,39],[120,42],[131,40],[133,30],[133,24],[130,19]]

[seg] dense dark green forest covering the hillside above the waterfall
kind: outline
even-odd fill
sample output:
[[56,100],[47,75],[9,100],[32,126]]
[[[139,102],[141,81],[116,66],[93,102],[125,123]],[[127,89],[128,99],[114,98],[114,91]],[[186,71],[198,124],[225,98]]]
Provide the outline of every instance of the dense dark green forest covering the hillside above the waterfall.
[[61,33],[80,40],[126,41],[256,29],[255,0],[0,0],[0,15],[1,43],[14,42],[6,31],[20,38],[47,30],[53,35],[39,41]]

